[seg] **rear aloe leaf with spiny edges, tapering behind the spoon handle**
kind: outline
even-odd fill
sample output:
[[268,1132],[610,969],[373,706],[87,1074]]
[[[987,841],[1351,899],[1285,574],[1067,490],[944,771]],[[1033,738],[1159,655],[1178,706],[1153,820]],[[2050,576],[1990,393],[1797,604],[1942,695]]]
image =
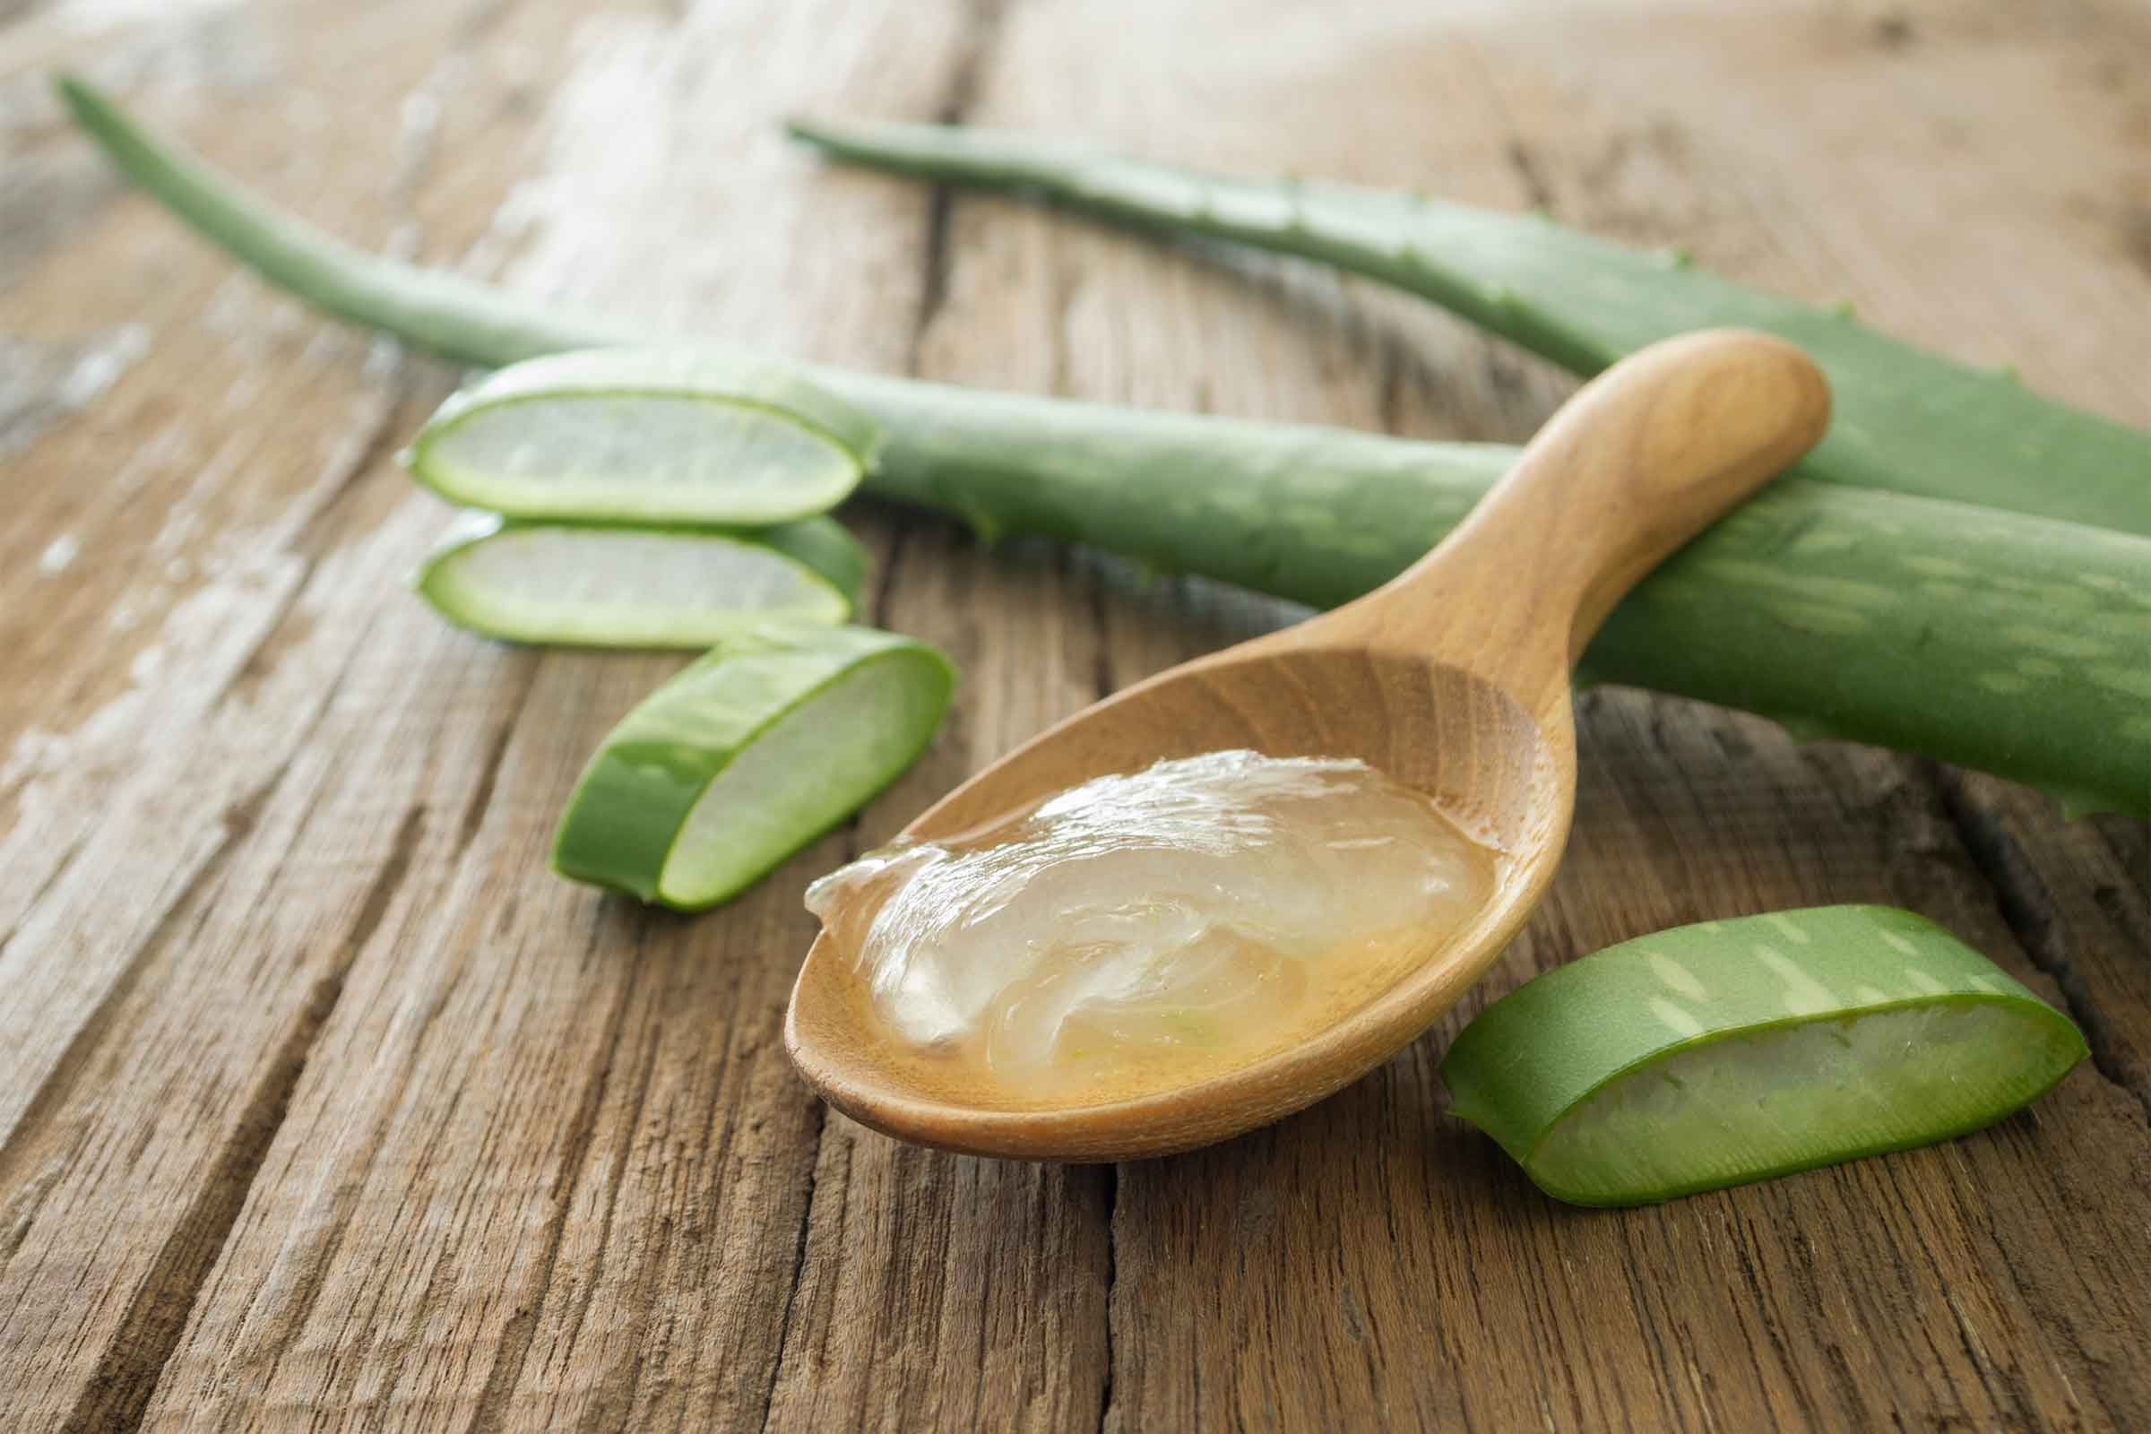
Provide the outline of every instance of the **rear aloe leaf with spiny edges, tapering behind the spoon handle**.
[[989,129],[798,123],[792,133],[847,163],[1323,260],[1433,299],[1579,374],[1689,329],[1764,329],[1831,376],[1831,432],[1798,473],[2151,535],[2151,434],[1678,254],[1628,249],[1542,215],[1217,178]]

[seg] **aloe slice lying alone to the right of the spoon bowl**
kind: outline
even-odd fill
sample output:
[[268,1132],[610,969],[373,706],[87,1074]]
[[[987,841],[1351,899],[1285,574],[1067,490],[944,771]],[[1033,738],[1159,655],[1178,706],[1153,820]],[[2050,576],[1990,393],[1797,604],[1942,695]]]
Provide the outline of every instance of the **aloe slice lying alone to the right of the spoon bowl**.
[[2084,1058],[2076,1026],[1912,912],[1843,905],[1609,946],[1471,1021],[1454,1112],[1570,1204],[1648,1204],[1964,1135]]

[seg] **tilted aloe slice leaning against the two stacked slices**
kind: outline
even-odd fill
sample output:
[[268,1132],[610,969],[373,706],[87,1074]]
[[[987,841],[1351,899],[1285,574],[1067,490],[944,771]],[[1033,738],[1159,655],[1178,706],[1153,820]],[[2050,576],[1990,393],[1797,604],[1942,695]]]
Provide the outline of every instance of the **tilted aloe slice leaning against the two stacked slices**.
[[731,639],[604,737],[553,869],[682,912],[727,901],[910,768],[953,690],[946,656],[893,632]]

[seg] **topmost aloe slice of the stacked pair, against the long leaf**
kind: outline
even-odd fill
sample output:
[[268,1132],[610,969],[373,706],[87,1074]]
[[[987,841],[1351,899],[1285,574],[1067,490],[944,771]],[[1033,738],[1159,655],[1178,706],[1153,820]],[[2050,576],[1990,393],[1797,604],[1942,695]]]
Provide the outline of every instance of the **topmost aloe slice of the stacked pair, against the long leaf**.
[[404,456],[443,497],[516,518],[768,525],[828,512],[878,434],[798,374],[710,348],[594,348],[452,398]]

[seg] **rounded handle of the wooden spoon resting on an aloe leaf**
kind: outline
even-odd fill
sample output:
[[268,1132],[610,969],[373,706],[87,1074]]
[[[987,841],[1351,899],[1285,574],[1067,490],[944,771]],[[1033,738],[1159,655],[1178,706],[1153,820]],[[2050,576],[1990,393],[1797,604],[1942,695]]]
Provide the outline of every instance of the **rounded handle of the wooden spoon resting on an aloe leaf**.
[[1493,666],[1564,639],[1559,675],[1658,561],[1822,436],[1831,389],[1792,344],[1708,329],[1643,348],[1555,413],[1471,516],[1387,587],[1336,613],[1387,647]]

